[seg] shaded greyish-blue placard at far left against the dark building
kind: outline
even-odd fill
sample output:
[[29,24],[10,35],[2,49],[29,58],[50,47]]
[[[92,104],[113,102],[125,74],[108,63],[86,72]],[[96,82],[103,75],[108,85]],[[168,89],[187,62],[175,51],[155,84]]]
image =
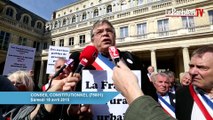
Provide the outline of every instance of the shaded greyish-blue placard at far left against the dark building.
[[35,57],[35,48],[10,44],[4,65],[3,75],[17,70],[32,70]]

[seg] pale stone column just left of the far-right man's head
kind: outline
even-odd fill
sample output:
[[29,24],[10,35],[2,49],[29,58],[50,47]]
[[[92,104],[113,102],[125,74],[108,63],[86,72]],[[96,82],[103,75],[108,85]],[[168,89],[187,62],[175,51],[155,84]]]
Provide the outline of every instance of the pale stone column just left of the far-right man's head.
[[188,47],[183,47],[182,52],[183,52],[184,71],[186,72],[189,70],[189,62],[190,62]]

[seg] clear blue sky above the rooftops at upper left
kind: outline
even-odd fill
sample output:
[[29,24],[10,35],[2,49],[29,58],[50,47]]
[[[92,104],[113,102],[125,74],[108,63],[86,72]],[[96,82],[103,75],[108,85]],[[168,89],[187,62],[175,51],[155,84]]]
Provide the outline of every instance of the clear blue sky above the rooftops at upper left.
[[50,20],[53,11],[76,2],[77,0],[11,0],[36,15]]

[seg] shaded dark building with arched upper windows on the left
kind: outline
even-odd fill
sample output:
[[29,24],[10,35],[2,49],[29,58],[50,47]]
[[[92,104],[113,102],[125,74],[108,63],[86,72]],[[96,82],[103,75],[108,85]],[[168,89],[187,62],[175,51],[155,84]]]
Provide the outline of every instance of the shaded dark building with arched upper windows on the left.
[[42,50],[51,43],[47,41],[50,34],[45,33],[46,22],[9,0],[0,1],[0,74],[3,73],[9,43],[14,43],[36,48],[34,69],[35,75],[39,75]]

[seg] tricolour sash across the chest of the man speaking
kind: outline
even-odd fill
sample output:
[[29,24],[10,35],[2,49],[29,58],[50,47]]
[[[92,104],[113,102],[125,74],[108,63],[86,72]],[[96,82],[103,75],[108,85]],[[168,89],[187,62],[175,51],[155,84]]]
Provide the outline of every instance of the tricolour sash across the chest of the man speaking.
[[112,69],[115,67],[115,64],[109,60],[109,58],[104,57],[100,53],[98,54],[98,57],[95,59],[95,62],[92,64],[96,70],[109,70],[112,71]]

